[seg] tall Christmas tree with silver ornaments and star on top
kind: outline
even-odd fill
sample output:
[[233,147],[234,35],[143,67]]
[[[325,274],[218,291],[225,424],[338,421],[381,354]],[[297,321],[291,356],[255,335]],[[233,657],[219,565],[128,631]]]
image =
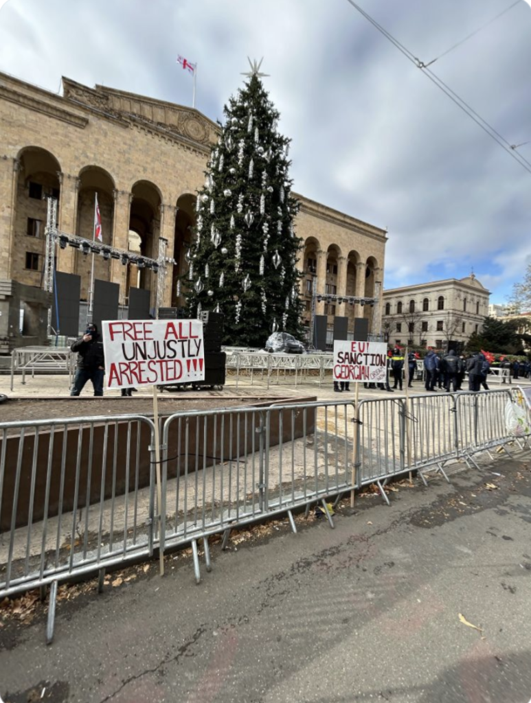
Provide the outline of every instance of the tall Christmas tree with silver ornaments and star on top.
[[188,315],[222,312],[224,344],[238,347],[263,347],[276,330],[300,336],[302,313],[290,140],[279,134],[279,112],[264,90],[260,64],[251,69],[224,108],[186,252]]

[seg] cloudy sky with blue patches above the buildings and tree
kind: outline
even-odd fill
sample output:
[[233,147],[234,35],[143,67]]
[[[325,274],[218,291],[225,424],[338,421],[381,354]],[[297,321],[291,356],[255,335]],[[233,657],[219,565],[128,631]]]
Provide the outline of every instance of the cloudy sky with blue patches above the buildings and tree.
[[[440,56],[514,0],[359,0],[414,56]],[[1,4],[1,0],[0,0]],[[520,0],[430,69],[531,162],[531,7]],[[531,262],[531,173],[347,0],[8,0],[0,70],[189,105],[212,120],[247,56],[293,138],[295,189],[389,229],[385,287],[473,268],[504,302]],[[300,233],[302,234],[302,233]]]

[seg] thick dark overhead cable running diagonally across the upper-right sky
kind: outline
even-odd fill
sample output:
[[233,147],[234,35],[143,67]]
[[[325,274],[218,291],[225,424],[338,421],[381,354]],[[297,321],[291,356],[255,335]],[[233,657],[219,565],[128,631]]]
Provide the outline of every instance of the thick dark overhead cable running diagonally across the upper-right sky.
[[[501,146],[501,148],[508,153],[508,155],[513,157],[513,159],[518,162],[521,167],[523,167],[527,172],[531,174],[531,162],[527,161],[527,159],[525,159],[522,155],[516,152],[516,145],[511,144],[506,140],[504,136],[499,134],[499,132],[494,129],[494,127],[492,127],[492,125],[490,125],[487,120],[484,120],[481,115],[478,114],[478,112],[473,110],[473,108],[471,108],[471,106],[468,105],[468,103],[466,103],[463,98],[457,95],[457,93],[455,93],[449,86],[447,86],[447,84],[444,83],[444,81],[440,79],[437,75],[435,75],[433,71],[429,70],[429,64],[423,63],[423,61],[417,58],[414,53],[411,53],[411,51],[409,51],[409,49],[407,49],[404,44],[401,44],[398,39],[393,37],[390,32],[388,32],[387,30],[385,30],[384,27],[382,27],[382,25],[378,24],[378,22],[376,22],[376,20],[372,18],[369,13],[366,13],[364,9],[362,9],[357,3],[355,3],[354,0],[347,0],[347,2],[349,2],[352,7],[354,7],[361,15],[363,15],[366,20],[371,22],[371,25],[373,25],[373,27],[376,27],[378,32],[383,34],[383,36],[388,39],[388,41],[390,41],[391,44],[393,44],[401,53],[403,53],[404,56],[409,61],[411,61],[411,63],[413,63],[417,68],[420,68],[423,74],[428,79],[430,79],[430,81],[434,83],[437,88],[439,88],[446,96],[448,96],[450,100],[458,106],[458,108],[463,110],[463,112],[465,112],[466,115],[471,118],[471,120],[478,124],[478,127],[485,131],[485,133],[488,134],[490,138],[494,139],[494,141],[497,142],[499,146]],[[519,146],[523,145],[520,144]]]

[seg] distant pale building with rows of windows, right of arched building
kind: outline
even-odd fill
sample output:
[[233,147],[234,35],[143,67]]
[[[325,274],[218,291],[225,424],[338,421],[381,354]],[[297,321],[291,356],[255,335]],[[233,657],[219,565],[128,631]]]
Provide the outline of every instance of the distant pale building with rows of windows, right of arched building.
[[447,349],[480,332],[490,292],[475,275],[383,291],[382,331],[390,344]]

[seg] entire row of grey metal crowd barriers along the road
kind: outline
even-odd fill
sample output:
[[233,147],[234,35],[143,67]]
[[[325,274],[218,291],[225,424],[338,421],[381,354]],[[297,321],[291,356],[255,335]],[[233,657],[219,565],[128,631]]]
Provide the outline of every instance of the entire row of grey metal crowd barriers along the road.
[[[153,422],[140,415],[0,425],[0,599],[198,541],[415,470],[448,480],[449,460],[518,440],[505,408],[517,389],[175,413],[162,423],[161,503]],[[525,438],[529,444],[529,437]]]

